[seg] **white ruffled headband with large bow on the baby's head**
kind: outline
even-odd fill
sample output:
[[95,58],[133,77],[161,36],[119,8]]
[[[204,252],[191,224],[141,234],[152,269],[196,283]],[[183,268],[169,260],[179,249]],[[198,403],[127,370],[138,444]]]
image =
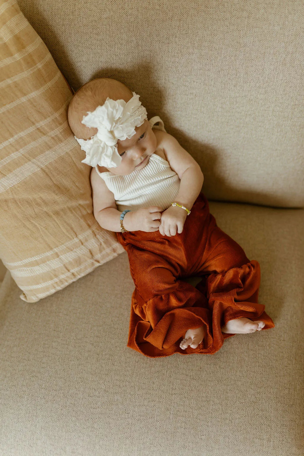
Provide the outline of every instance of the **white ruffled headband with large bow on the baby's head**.
[[107,98],[103,106],[83,116],[82,124],[97,128],[98,132],[90,140],[75,139],[86,152],[82,163],[90,166],[105,166],[115,168],[120,165],[122,157],[117,150],[117,141],[131,138],[135,135],[135,127],[147,119],[147,111],[139,101],[135,92],[126,103],[124,100]]

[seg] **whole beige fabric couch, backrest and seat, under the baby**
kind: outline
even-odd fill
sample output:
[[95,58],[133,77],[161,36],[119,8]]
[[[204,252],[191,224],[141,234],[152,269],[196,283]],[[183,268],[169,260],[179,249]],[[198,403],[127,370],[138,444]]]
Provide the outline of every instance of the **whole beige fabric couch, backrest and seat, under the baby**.
[[304,455],[301,2],[19,5],[74,89],[129,84],[200,163],[218,226],[261,265],[275,328],[147,358],[126,346],[126,252],[35,304],[7,272],[0,455]]

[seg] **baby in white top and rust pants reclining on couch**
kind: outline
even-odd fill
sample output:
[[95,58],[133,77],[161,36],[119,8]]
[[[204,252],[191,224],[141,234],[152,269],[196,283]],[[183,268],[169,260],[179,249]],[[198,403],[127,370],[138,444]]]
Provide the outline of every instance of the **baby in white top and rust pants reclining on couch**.
[[[94,79],[74,94],[68,122],[92,166],[94,217],[128,252],[128,347],[152,358],[212,354],[226,337],[274,326],[258,304],[258,262],[217,227],[200,166],[158,116],[147,119],[138,95]],[[206,280],[180,280],[190,275]]]

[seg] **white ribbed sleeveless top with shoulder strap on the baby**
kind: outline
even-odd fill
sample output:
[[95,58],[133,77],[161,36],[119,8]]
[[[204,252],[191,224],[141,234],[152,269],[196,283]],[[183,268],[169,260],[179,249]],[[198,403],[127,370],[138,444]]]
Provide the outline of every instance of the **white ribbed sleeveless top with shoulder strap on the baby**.
[[[159,125],[155,125],[159,122]],[[149,120],[152,128],[165,130],[164,122],[159,116]],[[134,170],[126,176],[116,176],[110,171],[97,173],[105,181],[108,189],[114,194],[119,211],[125,209],[136,211],[140,207],[160,206],[170,207],[180,189],[180,178],[170,168],[169,162],[159,155],[150,155],[144,168]]]

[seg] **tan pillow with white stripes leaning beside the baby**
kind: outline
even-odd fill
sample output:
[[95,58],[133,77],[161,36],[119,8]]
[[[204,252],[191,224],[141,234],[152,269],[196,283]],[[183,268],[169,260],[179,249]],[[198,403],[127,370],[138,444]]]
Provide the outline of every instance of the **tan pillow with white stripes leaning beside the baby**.
[[0,0],[0,258],[36,302],[124,251],[93,216],[72,93],[15,0]]

